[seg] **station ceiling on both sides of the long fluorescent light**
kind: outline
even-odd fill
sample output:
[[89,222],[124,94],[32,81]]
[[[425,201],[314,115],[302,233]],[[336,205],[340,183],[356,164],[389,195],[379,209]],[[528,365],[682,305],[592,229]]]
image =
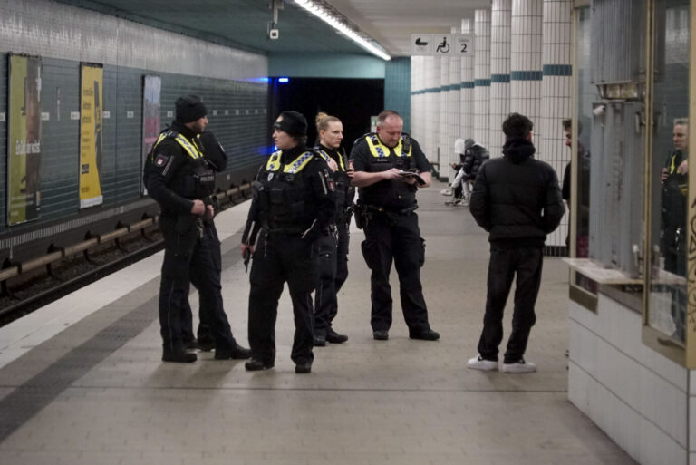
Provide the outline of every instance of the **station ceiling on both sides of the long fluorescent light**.
[[[370,54],[304,12],[292,0],[278,15],[278,40],[268,38],[270,0],[58,0],[143,24],[257,53]],[[329,5],[392,56],[410,53],[411,34],[449,33],[490,0],[330,0]]]

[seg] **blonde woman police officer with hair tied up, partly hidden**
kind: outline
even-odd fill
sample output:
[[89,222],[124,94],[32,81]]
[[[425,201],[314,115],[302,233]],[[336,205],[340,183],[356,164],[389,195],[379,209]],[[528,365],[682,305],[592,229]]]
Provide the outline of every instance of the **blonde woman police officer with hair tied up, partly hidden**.
[[351,187],[348,160],[341,148],[343,123],[326,113],[317,114],[315,122],[319,144],[314,150],[333,170],[336,189],[336,212],[331,225],[333,234],[320,237],[314,244],[319,260],[319,279],[314,294],[314,345],[324,346],[327,342],[342,344],[348,340],[347,335],[333,330],[332,322],[338,313],[336,295],[348,277],[348,229],[355,189]]

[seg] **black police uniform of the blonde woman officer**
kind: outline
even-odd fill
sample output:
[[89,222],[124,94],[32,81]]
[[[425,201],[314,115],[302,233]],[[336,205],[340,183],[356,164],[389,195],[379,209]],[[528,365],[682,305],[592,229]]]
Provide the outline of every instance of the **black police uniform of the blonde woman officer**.
[[332,322],[338,313],[336,295],[348,278],[349,227],[353,214],[355,189],[351,187],[351,179],[346,173],[348,160],[343,150],[328,149],[321,144],[317,145],[314,150],[327,163],[333,159],[337,165],[337,169],[332,173],[336,189],[333,234],[319,237],[314,244],[319,260],[319,279],[314,294],[314,336],[317,338],[318,344],[325,344],[323,339],[327,335],[330,342],[343,342],[345,340],[345,336],[333,331]]

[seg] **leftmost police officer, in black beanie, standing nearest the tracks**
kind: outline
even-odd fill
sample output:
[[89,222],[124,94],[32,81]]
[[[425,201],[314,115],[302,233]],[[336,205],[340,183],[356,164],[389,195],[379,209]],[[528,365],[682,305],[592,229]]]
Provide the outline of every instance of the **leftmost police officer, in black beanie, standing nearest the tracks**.
[[215,176],[197,137],[208,124],[206,107],[198,97],[187,95],[177,100],[176,111],[171,128],[153,145],[144,173],[150,197],[160,203],[165,243],[160,282],[162,360],[196,361],[181,334],[181,307],[189,295],[189,281],[205,301],[203,319],[215,336],[215,358],[248,358],[248,349],[232,336],[222,307],[219,240],[210,200]]

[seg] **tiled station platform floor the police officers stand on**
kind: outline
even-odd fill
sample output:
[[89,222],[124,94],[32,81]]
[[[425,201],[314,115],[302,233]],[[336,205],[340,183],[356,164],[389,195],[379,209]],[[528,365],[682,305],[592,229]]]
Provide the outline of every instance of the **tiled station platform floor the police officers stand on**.
[[[419,193],[422,283],[438,342],[412,341],[392,271],[389,341],[370,328],[370,275],[352,230],[350,276],[334,327],[346,344],[315,348],[310,374],[290,360],[286,291],[275,369],[198,353],[162,363],[162,253],[0,328],[0,463],[466,464],[634,463],[567,400],[564,263],[546,258],[526,358],[537,373],[468,370],[486,298],[488,242],[468,208]],[[247,345],[248,275],[239,254],[248,203],[217,219],[223,293]],[[197,313],[198,297],[191,295]],[[506,315],[506,338],[511,303]]]

